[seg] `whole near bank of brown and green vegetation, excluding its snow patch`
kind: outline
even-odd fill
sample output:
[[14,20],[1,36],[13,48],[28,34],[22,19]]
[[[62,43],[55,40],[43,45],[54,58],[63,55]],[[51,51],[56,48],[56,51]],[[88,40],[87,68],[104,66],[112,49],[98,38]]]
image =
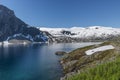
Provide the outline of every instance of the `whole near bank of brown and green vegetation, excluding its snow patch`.
[[[86,50],[104,45],[113,45],[115,49],[85,55]],[[74,72],[66,75],[64,80],[120,80],[120,41],[107,41],[76,49],[62,61],[65,74]]]

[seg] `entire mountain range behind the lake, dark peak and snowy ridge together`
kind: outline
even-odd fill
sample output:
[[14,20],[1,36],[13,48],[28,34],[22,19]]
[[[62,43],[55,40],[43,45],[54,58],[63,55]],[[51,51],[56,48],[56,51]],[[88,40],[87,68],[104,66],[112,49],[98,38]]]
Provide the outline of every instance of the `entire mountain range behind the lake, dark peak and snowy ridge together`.
[[110,40],[120,35],[120,28],[35,28],[17,18],[14,11],[0,5],[0,42],[81,42]]

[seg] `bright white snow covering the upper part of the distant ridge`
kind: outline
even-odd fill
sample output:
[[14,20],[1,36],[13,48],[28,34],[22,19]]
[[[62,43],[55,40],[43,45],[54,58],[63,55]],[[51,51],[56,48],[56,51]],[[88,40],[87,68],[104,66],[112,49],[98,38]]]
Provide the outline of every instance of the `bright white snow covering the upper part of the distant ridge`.
[[107,37],[111,35],[119,35],[120,28],[112,28],[112,27],[102,27],[102,26],[91,26],[91,27],[72,27],[72,28],[39,28],[41,31],[48,31],[53,36],[64,36],[61,31],[70,31],[74,35],[65,35],[69,37],[77,37],[77,38],[88,38],[88,37]]

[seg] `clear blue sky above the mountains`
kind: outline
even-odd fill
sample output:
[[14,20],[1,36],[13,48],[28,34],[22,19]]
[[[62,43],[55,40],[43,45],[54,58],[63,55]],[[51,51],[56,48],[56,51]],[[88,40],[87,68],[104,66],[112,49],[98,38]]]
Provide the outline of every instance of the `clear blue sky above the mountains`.
[[0,0],[32,26],[120,27],[120,0]]

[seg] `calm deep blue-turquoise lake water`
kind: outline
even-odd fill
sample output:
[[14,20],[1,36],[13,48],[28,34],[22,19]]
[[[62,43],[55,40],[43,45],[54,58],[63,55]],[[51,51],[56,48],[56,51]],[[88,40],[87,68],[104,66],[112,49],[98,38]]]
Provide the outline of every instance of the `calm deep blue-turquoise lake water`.
[[0,45],[0,80],[59,80],[56,51],[72,51],[98,43]]

